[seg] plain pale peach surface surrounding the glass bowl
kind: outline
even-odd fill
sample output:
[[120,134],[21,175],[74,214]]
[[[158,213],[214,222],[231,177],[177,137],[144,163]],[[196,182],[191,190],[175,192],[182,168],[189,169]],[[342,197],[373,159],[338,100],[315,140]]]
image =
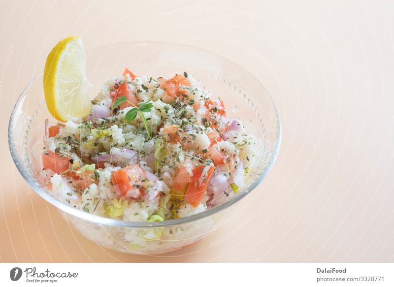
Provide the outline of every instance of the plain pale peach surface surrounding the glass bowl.
[[[0,1],[0,261],[394,261],[393,1]],[[125,255],[70,229],[9,155],[16,97],[67,35],[187,43],[270,91],[283,141],[235,220],[178,252]],[[251,216],[253,215],[253,216]]]

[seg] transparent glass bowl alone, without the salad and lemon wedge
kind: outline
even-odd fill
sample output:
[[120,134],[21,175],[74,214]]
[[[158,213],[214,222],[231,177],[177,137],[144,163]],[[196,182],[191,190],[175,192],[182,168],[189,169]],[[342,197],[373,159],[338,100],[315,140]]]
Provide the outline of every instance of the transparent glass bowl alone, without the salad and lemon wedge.
[[[225,103],[227,115],[242,119],[246,131],[258,139],[260,164],[252,171],[243,190],[224,203],[186,218],[164,222],[126,222],[103,218],[75,209],[51,195],[39,176],[44,146],[44,122],[57,123],[46,109],[43,76],[38,75],[19,96],[13,108],[8,141],[12,158],[30,186],[56,206],[82,235],[116,251],[161,254],[180,249],[203,238],[229,214],[234,203],[254,190],[274,163],[281,141],[276,106],[263,85],[249,72],[228,59],[195,47],[153,41],[123,42],[95,47],[86,53],[88,92],[97,95],[101,85],[125,67],[136,74],[170,77],[174,73],[193,75],[214,96]],[[147,234],[160,234],[148,239]]]

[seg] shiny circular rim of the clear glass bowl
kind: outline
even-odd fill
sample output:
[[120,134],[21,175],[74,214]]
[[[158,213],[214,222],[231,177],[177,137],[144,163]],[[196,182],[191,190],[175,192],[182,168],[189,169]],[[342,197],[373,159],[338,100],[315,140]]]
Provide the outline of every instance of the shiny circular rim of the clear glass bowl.
[[[252,75],[250,72],[248,72],[247,70],[245,70],[243,67],[241,67],[240,65],[238,65],[237,63],[227,59],[226,57],[207,51],[207,50],[203,50],[191,45],[185,45],[185,44],[179,44],[179,43],[171,43],[171,42],[164,42],[164,41],[128,41],[128,42],[122,42],[122,43],[130,43],[130,44],[134,44],[134,45],[147,45],[147,44],[168,44],[168,45],[176,45],[176,46],[184,46],[187,48],[193,48],[195,50],[199,50],[200,52],[204,52],[206,54],[210,54],[212,56],[215,57],[219,57],[224,61],[229,61],[231,62],[231,64],[235,64],[239,69],[241,69],[245,74],[248,74],[248,76],[254,78],[260,85],[261,87],[265,90],[265,92],[267,93],[267,95],[269,96],[269,99],[275,109],[275,113],[276,113],[276,118],[277,118],[277,124],[278,124],[278,138],[276,140],[276,146],[275,146],[275,150],[272,153],[271,158],[269,159],[269,166],[268,168],[266,168],[264,170],[264,172],[248,187],[247,190],[243,191],[242,193],[238,194],[237,196],[233,196],[231,198],[229,198],[227,200],[227,202],[222,203],[221,205],[212,207],[210,209],[207,209],[203,212],[188,216],[188,217],[184,217],[184,218],[179,218],[179,219],[173,219],[173,220],[166,220],[163,222],[131,222],[131,221],[121,221],[121,220],[117,220],[117,219],[110,219],[110,218],[104,218],[101,217],[99,215],[95,215],[92,213],[88,213],[79,209],[76,209],[70,205],[67,205],[66,203],[56,199],[55,197],[49,195],[48,193],[46,193],[37,183],[35,183],[34,181],[31,181],[29,179],[29,173],[27,168],[24,167],[23,164],[19,164],[19,162],[22,162],[23,159],[20,159],[20,157],[18,156],[18,153],[15,150],[15,146],[11,140],[11,132],[12,132],[12,125],[13,125],[13,121],[14,121],[14,116],[15,116],[15,111],[16,111],[16,107],[18,107],[20,101],[22,101],[23,96],[25,94],[25,92],[30,88],[30,86],[37,80],[37,78],[39,78],[43,73],[41,72],[39,75],[37,75],[36,77],[33,78],[32,82],[29,83],[29,85],[23,90],[23,92],[21,93],[21,95],[18,97],[17,101],[14,104],[14,107],[12,109],[11,112],[11,116],[10,116],[10,120],[9,120],[9,124],[8,124],[8,145],[9,145],[9,149],[11,152],[11,156],[12,159],[18,169],[18,171],[21,173],[21,175],[23,176],[23,178],[26,180],[26,182],[33,188],[33,190],[35,192],[38,193],[38,195],[40,195],[42,198],[44,198],[47,202],[49,202],[50,204],[54,205],[55,207],[57,207],[58,209],[60,209],[61,211],[66,212],[67,214],[70,214],[72,216],[75,216],[77,218],[80,218],[82,220],[86,220],[89,222],[93,222],[93,223],[99,223],[102,225],[108,225],[108,226],[117,226],[117,227],[138,227],[138,228],[144,228],[144,227],[152,227],[152,226],[174,226],[174,225],[180,225],[180,224],[185,224],[185,223],[191,223],[209,216],[212,216],[228,207],[230,207],[231,205],[233,205],[234,203],[238,202],[239,200],[241,200],[242,198],[244,198],[247,194],[249,194],[251,191],[253,191],[265,178],[265,176],[268,174],[268,172],[271,170],[272,165],[274,164],[277,156],[278,156],[278,151],[281,145],[281,141],[282,141],[282,126],[281,126],[281,122],[280,122],[280,116],[279,116],[279,111],[278,108],[271,96],[271,94],[269,94],[269,92],[267,91],[267,89],[265,89],[265,87],[263,86],[263,84],[254,76]],[[113,44],[106,44],[106,45],[100,45],[97,46],[95,48],[99,48],[102,46],[110,46]]]

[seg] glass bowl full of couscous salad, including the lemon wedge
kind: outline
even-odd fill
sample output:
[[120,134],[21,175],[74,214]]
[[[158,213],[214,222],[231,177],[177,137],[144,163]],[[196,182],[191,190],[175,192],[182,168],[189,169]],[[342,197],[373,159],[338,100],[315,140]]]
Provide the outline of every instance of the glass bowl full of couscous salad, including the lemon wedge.
[[[104,56],[115,50],[113,64]],[[272,166],[280,124],[271,97],[238,65],[201,51],[119,43],[85,58],[80,37],[68,37],[48,55],[43,89],[35,80],[18,99],[9,127],[18,169],[101,246],[159,254],[189,245]],[[110,71],[86,73],[93,59]],[[132,69],[119,64],[130,60]],[[40,98],[39,112],[28,98]]]

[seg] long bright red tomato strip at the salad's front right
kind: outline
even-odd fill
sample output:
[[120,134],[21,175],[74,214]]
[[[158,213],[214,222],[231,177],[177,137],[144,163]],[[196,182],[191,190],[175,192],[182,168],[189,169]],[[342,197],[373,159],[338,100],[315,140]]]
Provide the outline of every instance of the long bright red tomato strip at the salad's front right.
[[207,189],[215,167],[213,165],[198,165],[193,171],[192,182],[189,183],[185,200],[189,204],[197,207]]

